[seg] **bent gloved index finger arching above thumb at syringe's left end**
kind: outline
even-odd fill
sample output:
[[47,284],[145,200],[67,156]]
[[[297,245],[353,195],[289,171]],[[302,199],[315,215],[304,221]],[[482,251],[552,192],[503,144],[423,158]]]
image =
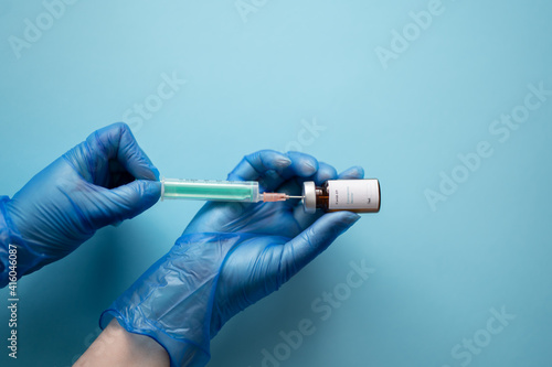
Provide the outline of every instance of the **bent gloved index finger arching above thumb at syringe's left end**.
[[93,162],[93,166],[88,166],[88,169],[104,169],[98,170],[99,172],[92,172],[93,177],[100,179],[93,181],[94,183],[105,184],[105,181],[108,180],[109,172],[106,172],[105,169],[109,169],[108,162],[110,160],[117,160],[137,180],[159,181],[159,171],[138,145],[126,123],[113,123],[93,132],[86,139],[86,144],[88,147],[88,161]]

